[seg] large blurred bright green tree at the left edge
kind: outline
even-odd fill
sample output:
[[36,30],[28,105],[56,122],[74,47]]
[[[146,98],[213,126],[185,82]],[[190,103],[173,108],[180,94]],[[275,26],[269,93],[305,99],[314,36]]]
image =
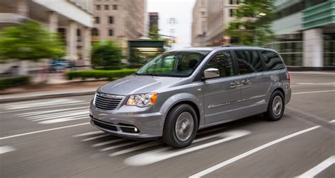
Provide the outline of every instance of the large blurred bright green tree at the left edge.
[[28,22],[0,31],[0,59],[33,60],[64,55],[64,46],[56,33],[39,23]]

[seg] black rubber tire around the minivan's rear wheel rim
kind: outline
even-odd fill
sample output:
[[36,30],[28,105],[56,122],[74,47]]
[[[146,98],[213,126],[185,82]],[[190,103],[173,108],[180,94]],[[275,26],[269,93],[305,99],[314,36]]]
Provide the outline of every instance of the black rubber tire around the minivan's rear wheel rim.
[[[275,114],[275,109],[273,108],[274,105],[274,99],[276,97],[281,97],[281,102],[282,102],[282,109],[281,112],[278,114]],[[284,110],[285,110],[285,97],[283,95],[283,93],[281,93],[281,91],[279,90],[275,90],[274,93],[272,93],[271,97],[270,97],[270,101],[269,101],[269,105],[268,105],[268,109],[267,111],[264,113],[264,117],[268,120],[268,121],[278,121],[279,119],[281,119],[281,117],[283,117],[284,114]]]

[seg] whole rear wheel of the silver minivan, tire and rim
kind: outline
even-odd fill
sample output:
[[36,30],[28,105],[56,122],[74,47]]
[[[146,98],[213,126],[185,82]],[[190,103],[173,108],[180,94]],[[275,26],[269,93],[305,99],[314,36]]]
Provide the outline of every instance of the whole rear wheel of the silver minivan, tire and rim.
[[264,116],[269,121],[278,121],[281,117],[283,117],[284,109],[285,102],[283,93],[276,90],[271,95],[268,110],[264,113]]

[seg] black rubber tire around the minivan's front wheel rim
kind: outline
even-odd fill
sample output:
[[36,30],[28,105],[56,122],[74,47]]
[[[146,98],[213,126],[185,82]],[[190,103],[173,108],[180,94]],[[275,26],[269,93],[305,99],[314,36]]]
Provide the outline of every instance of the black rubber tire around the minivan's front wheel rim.
[[[180,114],[184,112],[188,112],[189,114],[192,115],[193,130],[190,129],[192,130],[192,135],[189,136],[187,140],[182,141],[180,140],[180,138],[177,137],[175,127],[178,117],[180,116]],[[172,146],[174,148],[184,148],[192,143],[192,141],[196,136],[196,131],[198,131],[198,119],[196,117],[196,112],[194,108],[187,104],[177,105],[176,107],[173,107],[167,114],[163,130],[163,140],[167,145]]]

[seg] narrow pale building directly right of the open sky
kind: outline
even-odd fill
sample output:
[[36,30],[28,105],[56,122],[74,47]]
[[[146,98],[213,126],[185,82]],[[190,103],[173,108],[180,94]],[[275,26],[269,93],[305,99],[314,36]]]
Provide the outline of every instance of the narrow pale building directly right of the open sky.
[[197,0],[192,12],[192,47],[206,46],[207,1]]

